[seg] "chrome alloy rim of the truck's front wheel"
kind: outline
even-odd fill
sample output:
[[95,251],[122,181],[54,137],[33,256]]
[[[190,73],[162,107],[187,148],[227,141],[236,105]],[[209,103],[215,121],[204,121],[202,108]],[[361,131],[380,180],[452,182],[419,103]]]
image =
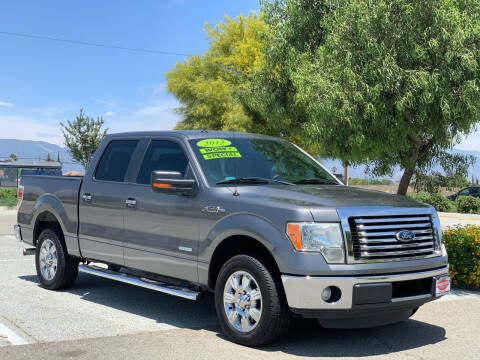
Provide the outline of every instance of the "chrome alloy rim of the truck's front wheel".
[[231,326],[249,332],[262,316],[262,293],[255,278],[246,271],[234,272],[225,284],[223,306]]

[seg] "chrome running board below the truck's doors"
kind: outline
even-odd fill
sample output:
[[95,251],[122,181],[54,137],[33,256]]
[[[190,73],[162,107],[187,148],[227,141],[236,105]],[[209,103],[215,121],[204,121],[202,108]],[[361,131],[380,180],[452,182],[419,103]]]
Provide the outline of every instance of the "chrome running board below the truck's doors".
[[150,290],[159,291],[169,295],[179,296],[184,299],[197,300],[198,297],[200,296],[199,292],[192,291],[190,289],[180,288],[177,286],[168,285],[155,280],[140,278],[140,277],[136,277],[129,274],[110,271],[95,265],[80,265],[78,267],[78,271],[91,274],[91,275],[104,277],[110,280],[124,282],[130,285],[144,287]]

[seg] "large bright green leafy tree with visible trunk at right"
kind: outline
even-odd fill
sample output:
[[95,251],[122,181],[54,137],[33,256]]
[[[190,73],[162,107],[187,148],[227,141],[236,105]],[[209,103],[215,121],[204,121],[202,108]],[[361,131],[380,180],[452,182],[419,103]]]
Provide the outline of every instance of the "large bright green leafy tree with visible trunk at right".
[[480,3],[345,0],[325,42],[291,75],[308,138],[323,155],[412,176],[446,156],[480,117]]

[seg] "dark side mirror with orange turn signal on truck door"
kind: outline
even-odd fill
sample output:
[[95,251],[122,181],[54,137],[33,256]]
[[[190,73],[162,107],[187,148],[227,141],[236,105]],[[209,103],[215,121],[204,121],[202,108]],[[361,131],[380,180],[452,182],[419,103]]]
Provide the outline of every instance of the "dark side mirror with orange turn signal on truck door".
[[152,190],[163,194],[193,195],[194,179],[184,179],[178,171],[152,171]]

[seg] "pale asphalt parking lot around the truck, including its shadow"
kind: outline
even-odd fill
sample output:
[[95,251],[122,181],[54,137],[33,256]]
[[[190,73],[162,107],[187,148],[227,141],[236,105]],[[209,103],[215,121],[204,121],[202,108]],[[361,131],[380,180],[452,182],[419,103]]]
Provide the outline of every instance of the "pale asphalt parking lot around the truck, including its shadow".
[[219,332],[213,299],[197,302],[80,274],[76,286],[38,285],[32,256],[0,215],[0,359],[478,359],[480,293],[456,291],[407,322],[330,330],[295,321],[277,344],[250,349]]

